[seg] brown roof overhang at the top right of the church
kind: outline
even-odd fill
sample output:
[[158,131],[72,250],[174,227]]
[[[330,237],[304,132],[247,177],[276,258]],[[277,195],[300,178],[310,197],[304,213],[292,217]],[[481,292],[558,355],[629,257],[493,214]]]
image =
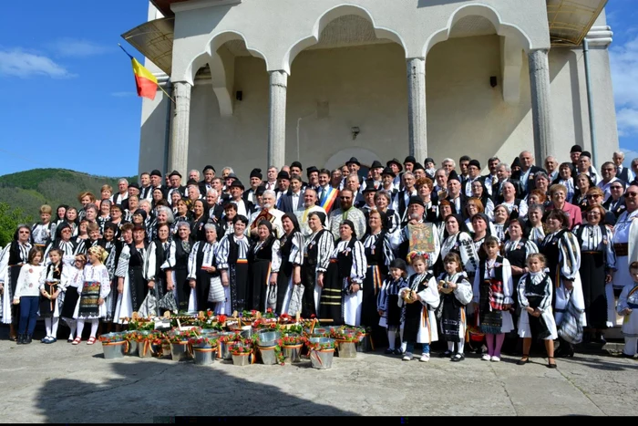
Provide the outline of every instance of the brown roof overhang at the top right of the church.
[[552,47],[580,46],[608,0],[547,0]]

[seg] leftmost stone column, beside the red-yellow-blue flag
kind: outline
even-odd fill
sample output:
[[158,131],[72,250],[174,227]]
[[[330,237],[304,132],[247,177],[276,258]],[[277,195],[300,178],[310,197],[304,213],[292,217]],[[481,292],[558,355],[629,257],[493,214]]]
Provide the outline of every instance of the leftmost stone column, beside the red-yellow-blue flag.
[[183,179],[188,178],[190,84],[185,81],[173,83],[175,113],[173,115],[173,137],[170,140],[169,173],[179,171]]

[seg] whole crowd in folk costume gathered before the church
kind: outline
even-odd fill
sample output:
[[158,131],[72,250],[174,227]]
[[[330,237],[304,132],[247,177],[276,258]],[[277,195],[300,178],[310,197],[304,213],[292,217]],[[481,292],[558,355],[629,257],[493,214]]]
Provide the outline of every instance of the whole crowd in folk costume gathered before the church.
[[0,315],[19,344],[38,316],[43,343],[62,318],[75,345],[89,322],[93,344],[149,295],[171,295],[186,312],[271,308],[364,326],[404,360],[427,361],[441,341],[462,361],[473,336],[492,362],[520,338],[522,365],[543,340],[555,368],[574,344],[604,343],[619,314],[633,357],[638,159],[623,167],[614,152],[597,171],[580,146],[570,157],[544,168],[529,151],[492,157],[481,175],[468,156],[438,168],[408,156],[374,161],[365,178],[356,158],[333,171],[294,161],[265,179],[252,170],[248,186],[230,167],[190,171],[185,185],[179,171],[143,172],[18,226],[0,255]]

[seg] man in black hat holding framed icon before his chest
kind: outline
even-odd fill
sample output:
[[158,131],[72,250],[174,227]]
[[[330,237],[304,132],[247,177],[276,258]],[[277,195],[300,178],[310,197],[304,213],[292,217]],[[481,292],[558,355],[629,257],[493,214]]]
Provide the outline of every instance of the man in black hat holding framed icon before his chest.
[[[427,268],[437,262],[441,251],[438,232],[434,223],[425,221],[426,206],[419,197],[410,197],[407,205],[407,222],[403,223],[394,234],[390,236],[393,250],[398,251],[398,258],[406,259],[411,253],[426,253],[428,256]],[[408,266],[408,274],[413,271]]]

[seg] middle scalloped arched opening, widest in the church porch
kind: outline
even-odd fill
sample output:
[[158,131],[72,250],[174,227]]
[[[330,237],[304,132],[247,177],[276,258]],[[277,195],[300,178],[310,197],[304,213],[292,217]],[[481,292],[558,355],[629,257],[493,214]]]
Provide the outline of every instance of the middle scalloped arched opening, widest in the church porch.
[[[355,6],[333,9],[317,23],[314,44],[310,37],[290,50],[286,161],[334,169],[356,157],[344,153],[349,149],[374,152],[368,166],[394,157],[397,149],[406,152],[406,58],[400,40]],[[340,152],[344,158],[335,159]],[[363,168],[365,161],[359,161]]]

